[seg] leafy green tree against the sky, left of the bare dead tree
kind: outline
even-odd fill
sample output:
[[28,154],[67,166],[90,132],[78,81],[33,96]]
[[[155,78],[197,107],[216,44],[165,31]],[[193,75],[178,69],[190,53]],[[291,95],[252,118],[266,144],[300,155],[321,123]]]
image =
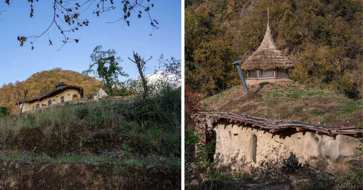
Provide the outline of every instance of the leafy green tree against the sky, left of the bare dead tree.
[[102,45],[96,46],[90,55],[91,63],[88,69],[82,72],[86,76],[96,77],[101,80],[106,93],[113,96],[119,95],[115,92],[120,92],[118,89],[123,88],[123,82],[120,82],[118,77],[129,76],[122,71],[121,66],[118,66],[122,60],[120,57],[115,57],[116,54],[117,52],[114,49],[102,50]]

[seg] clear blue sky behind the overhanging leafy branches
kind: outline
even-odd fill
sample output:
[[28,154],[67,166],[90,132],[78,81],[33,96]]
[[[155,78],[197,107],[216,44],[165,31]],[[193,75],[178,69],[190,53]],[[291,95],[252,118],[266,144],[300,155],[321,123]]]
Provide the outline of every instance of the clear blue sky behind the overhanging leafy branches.
[[[152,0],[151,0],[152,1]],[[17,36],[39,35],[53,20],[52,3],[49,1],[34,1],[34,16],[29,17],[30,3],[27,1],[10,1],[10,6],[4,4],[0,10],[6,10],[0,15],[0,85],[17,80],[23,81],[31,74],[41,70],[62,68],[81,72],[90,62],[90,54],[97,45],[104,49],[115,49],[118,56],[123,59],[121,66],[130,77],[138,75],[134,63],[128,60],[132,57],[132,50],[145,58],[150,68],[147,74],[152,73],[154,66],[158,65],[160,54],[165,57],[181,58],[181,1],[155,0],[154,7],[150,9],[152,19],[159,23],[159,29],[152,33],[150,20],[143,13],[142,19],[137,15],[131,16],[130,27],[123,26],[124,22],[109,24],[122,15],[121,1],[115,1],[116,10],[105,12],[99,17],[92,13],[90,7],[81,16],[87,16],[90,24],[71,34],[70,38],[80,37],[79,43],[62,45],[61,35],[52,27],[49,30],[50,39],[54,45],[48,45],[48,35],[42,36],[34,42],[31,50],[30,40],[20,47]],[[61,15],[60,15],[61,17]],[[55,32],[54,32],[55,31]]]

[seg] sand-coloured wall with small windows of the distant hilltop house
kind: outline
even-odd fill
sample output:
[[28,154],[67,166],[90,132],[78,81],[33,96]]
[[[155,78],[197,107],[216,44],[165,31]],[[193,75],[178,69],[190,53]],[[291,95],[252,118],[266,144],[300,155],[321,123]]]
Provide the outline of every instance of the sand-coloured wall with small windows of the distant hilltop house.
[[[36,105],[39,104],[40,108],[48,106],[48,101],[52,100],[52,105],[58,104],[61,102],[61,97],[64,97],[64,101],[73,100],[73,96],[76,95],[77,99],[81,97],[79,94],[79,90],[76,89],[67,89],[63,92],[60,92],[52,97],[44,98],[41,101],[35,101],[32,103],[25,103],[22,112],[26,112],[29,110],[35,109]],[[21,104],[20,104],[21,107]]]

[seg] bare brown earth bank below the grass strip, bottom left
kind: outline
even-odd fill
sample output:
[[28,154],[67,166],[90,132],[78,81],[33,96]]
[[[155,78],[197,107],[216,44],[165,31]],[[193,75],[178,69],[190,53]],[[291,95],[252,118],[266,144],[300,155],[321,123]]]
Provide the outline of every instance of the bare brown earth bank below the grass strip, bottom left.
[[180,189],[175,166],[0,161],[0,189]]

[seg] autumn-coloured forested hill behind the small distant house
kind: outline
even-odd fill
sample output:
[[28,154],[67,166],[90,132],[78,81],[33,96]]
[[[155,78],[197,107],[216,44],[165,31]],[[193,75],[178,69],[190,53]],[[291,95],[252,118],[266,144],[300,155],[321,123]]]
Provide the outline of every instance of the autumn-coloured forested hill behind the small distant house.
[[29,89],[26,99],[31,99],[53,90],[60,80],[63,80],[69,85],[81,86],[84,90],[84,96],[92,92],[97,92],[102,85],[101,81],[91,77],[85,78],[83,74],[72,70],[63,70],[61,68],[43,70],[32,74],[25,81],[16,81],[15,84],[9,83],[2,85],[0,88],[0,106],[7,107],[10,113],[16,113],[17,108],[14,95],[17,89],[20,92],[24,88]]

